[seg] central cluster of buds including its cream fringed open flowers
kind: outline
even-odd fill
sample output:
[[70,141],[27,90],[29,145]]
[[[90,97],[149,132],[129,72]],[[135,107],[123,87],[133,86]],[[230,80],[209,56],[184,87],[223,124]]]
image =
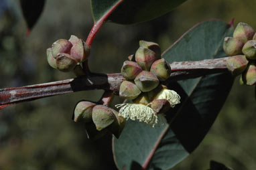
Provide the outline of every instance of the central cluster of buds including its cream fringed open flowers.
[[161,113],[180,103],[180,96],[161,84],[170,78],[170,64],[161,58],[159,45],[149,41],[139,41],[135,56],[128,58],[121,68],[126,80],[121,83],[119,96],[133,102],[117,104],[119,115],[155,126],[158,119],[165,120]]

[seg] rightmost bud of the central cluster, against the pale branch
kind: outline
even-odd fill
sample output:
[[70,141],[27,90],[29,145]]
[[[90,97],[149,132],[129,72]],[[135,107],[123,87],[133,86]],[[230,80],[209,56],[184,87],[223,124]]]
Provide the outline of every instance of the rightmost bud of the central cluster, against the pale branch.
[[170,78],[172,70],[170,64],[162,58],[153,62],[150,72],[155,74],[160,81],[165,81]]

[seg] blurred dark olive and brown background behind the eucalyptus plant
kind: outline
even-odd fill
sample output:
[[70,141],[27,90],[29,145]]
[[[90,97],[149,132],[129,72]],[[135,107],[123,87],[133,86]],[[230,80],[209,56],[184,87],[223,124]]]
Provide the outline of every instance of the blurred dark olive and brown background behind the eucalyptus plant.
[[[90,1],[46,1],[27,36],[17,0],[0,0],[0,88],[73,78],[48,66],[46,48],[74,34],[86,39],[92,27]],[[94,72],[120,72],[139,40],[157,42],[164,52],[194,24],[235,17],[256,28],[256,1],[188,0],[158,19],[136,25],[107,23],[94,40],[89,60]],[[229,98],[198,149],[173,169],[209,168],[210,160],[233,169],[256,169],[255,88],[236,80]],[[0,169],[116,169],[111,136],[86,138],[71,120],[78,100],[97,101],[102,90],[76,92],[9,106],[0,111]],[[116,99],[115,101],[117,101]],[[115,102],[114,101],[114,102]]]

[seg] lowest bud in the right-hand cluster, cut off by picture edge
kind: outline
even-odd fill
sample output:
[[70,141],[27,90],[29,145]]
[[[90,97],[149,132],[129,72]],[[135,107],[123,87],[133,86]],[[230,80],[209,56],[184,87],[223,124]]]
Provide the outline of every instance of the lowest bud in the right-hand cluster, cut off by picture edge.
[[243,82],[250,86],[256,84],[256,62],[250,62],[243,72]]

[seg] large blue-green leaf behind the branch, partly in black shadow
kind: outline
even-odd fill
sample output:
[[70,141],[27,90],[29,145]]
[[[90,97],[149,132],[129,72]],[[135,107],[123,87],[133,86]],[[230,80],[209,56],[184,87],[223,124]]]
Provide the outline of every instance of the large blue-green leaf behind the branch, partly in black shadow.
[[[225,57],[224,37],[233,33],[231,25],[212,20],[195,25],[164,53],[170,63]],[[181,104],[167,113],[176,114],[172,125],[151,128],[127,121],[113,153],[119,169],[134,165],[147,169],[170,169],[187,157],[202,141],[224,104],[233,84],[230,74],[212,74],[170,84],[181,96]]]

